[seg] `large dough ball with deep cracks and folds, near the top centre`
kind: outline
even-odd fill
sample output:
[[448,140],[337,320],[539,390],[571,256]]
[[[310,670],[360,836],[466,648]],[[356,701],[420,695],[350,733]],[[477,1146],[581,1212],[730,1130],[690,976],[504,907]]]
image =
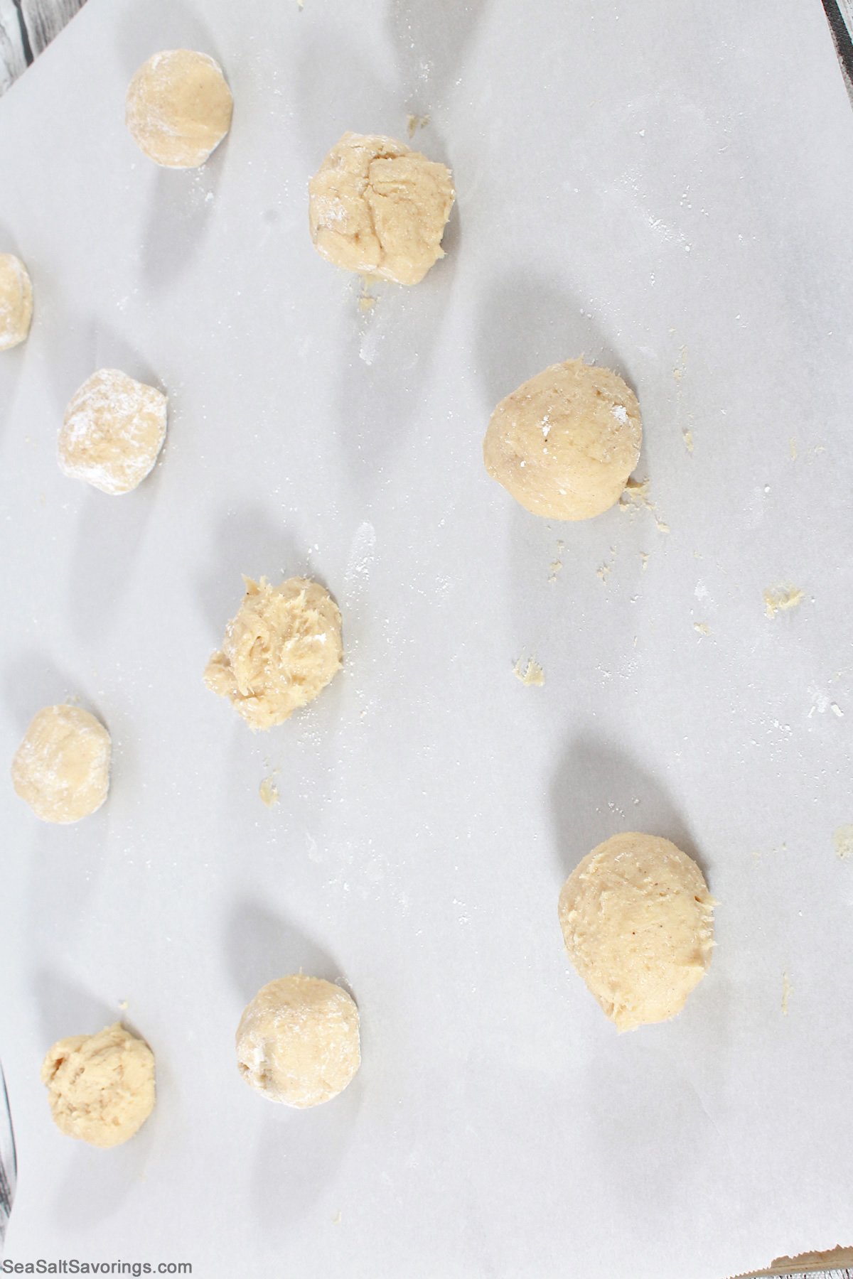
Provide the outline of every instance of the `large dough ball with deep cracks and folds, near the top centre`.
[[344,133],[308,183],[311,238],[347,271],[417,284],[444,257],[446,165],[379,134]]

